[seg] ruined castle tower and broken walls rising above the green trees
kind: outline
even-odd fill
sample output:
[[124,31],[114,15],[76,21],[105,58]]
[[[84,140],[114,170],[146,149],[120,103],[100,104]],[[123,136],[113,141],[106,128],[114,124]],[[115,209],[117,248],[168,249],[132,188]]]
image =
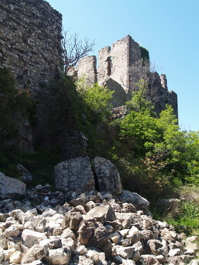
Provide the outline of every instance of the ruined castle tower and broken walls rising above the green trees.
[[[94,83],[97,81],[101,86],[114,90],[112,105],[118,107],[124,105],[132,97],[135,84],[139,81],[142,72],[140,46],[130,35],[106,46],[98,52],[98,68],[96,70],[96,57],[88,56],[78,63],[76,69],[80,77],[85,74]],[[138,74],[139,73],[139,74]],[[159,114],[165,109],[166,103],[171,104],[178,117],[177,94],[168,91],[166,75],[154,74],[151,89],[147,91],[147,97],[155,106]]]

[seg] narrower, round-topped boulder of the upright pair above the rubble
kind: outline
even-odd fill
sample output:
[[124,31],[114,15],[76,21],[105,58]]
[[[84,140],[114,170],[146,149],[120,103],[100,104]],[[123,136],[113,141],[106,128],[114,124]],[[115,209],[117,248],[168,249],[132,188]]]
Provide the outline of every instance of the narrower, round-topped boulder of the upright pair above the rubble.
[[98,179],[99,191],[109,192],[113,195],[120,194],[122,186],[116,167],[109,160],[102,157],[95,157],[93,164]]

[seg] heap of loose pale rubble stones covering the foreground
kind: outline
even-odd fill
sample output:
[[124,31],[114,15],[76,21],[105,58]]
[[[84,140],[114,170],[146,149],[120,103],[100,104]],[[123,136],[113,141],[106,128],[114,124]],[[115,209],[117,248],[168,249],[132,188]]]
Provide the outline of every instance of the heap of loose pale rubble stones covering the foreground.
[[53,192],[46,184],[21,195],[24,183],[13,180],[13,193],[10,181],[0,173],[1,265],[199,264],[198,237],[153,220],[137,193]]

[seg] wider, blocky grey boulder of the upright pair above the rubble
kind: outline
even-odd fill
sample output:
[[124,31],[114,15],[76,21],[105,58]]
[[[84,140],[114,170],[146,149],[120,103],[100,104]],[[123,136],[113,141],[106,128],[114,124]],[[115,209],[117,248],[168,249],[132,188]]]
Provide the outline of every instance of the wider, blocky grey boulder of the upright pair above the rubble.
[[56,189],[68,188],[80,194],[95,190],[95,179],[88,157],[66,160],[54,167]]

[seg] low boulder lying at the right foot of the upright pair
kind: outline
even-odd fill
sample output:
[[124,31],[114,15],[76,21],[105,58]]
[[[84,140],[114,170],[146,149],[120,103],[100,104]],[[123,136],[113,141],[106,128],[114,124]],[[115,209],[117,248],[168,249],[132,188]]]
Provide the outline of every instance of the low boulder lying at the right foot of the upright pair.
[[135,206],[137,211],[142,210],[144,214],[151,215],[149,211],[150,203],[148,202],[148,200],[141,197],[139,194],[135,192],[131,192],[128,190],[122,190],[122,193],[119,196],[119,200],[121,202],[132,203]]

